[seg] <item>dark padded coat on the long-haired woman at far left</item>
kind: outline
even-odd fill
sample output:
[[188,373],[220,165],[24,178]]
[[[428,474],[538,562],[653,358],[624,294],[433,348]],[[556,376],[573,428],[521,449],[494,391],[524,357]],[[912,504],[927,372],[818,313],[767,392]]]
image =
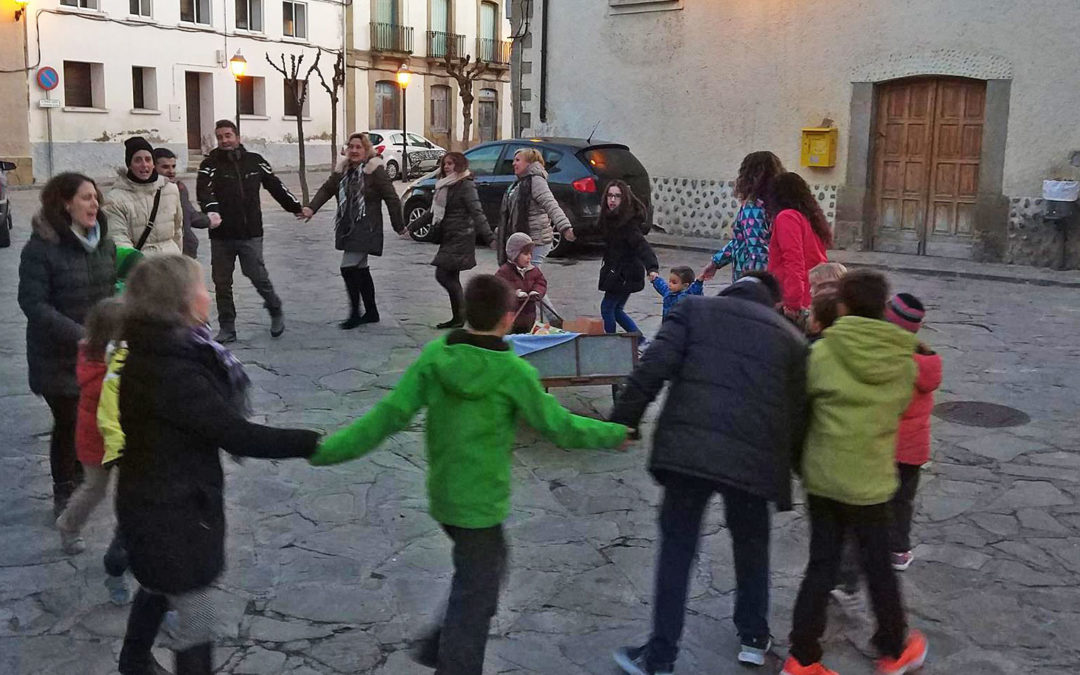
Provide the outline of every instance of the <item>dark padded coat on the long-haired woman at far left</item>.
[[99,300],[112,295],[117,247],[107,218],[97,215],[100,237],[86,251],[69,221],[31,220],[18,265],[18,306],[26,314],[26,361],[30,391],[44,396],[79,395],[76,361],[82,323]]

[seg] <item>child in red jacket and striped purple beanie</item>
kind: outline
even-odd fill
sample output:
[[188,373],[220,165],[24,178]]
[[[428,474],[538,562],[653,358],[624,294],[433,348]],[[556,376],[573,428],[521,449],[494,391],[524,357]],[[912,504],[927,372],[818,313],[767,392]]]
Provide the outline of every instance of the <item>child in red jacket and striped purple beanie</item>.
[[[918,298],[899,293],[886,306],[886,319],[901,328],[918,333],[926,315],[926,308]],[[919,487],[919,471],[930,461],[930,413],[934,407],[934,391],[942,383],[942,357],[924,343],[919,342],[915,352],[919,374],[915,380],[915,396],[904,410],[896,435],[896,471],[900,488],[892,498],[892,566],[904,570],[910,567],[912,515],[915,512],[915,491]]]

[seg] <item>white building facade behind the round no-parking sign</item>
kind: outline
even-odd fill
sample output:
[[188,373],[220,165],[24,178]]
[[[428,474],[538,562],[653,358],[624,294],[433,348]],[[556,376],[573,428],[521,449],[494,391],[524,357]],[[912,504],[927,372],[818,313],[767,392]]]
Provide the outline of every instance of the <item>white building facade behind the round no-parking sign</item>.
[[[272,164],[296,165],[296,106],[266,58],[280,63],[284,55],[287,64],[302,55],[307,72],[322,51],[328,79],[343,46],[343,18],[342,5],[325,0],[30,2],[24,21],[33,177],[110,175],[123,163],[120,141],[133,135],[168,147],[181,166],[198,161],[215,145],[214,122],[235,119],[238,93],[244,144]],[[238,52],[247,62],[239,87],[229,68]],[[46,66],[59,76],[52,92],[37,82]],[[314,76],[301,114],[309,144],[325,146],[330,103]]]

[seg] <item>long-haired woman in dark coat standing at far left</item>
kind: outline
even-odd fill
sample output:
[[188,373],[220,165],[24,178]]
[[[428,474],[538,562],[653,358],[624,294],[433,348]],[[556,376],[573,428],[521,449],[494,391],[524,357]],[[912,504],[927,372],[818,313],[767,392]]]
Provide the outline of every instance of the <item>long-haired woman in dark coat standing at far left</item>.
[[64,512],[82,477],[75,453],[75,363],[82,322],[90,308],[112,295],[117,280],[117,247],[106,235],[100,203],[102,193],[86,176],[52,178],[41,191],[41,211],[33,216],[18,266],[30,391],[44,396],[53,413],[49,458],[54,516]]

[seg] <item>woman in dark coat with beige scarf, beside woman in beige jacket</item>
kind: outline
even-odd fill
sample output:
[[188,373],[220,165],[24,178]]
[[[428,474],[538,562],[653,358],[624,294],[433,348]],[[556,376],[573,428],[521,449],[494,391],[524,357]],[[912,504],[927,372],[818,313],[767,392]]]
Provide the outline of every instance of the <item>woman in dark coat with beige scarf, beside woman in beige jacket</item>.
[[431,264],[435,266],[435,281],[450,296],[454,315],[435,327],[460,328],[465,323],[461,272],[476,267],[476,233],[480,232],[481,239],[489,246],[495,245],[495,235],[481,207],[465,156],[460,152],[444,154],[437,178],[431,208],[409,225],[409,229],[417,230],[427,225],[436,228],[438,253]]

